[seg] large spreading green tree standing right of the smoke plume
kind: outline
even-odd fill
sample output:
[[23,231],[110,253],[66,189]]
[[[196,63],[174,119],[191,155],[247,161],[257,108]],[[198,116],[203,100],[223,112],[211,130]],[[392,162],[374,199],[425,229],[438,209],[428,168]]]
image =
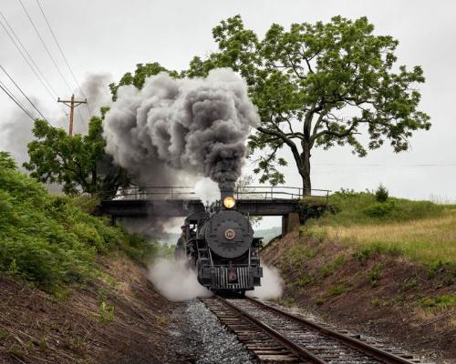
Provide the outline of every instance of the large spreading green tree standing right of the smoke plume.
[[400,152],[413,131],[430,128],[430,116],[418,109],[420,66],[397,66],[398,41],[373,32],[366,17],[336,16],[289,30],[273,24],[260,39],[237,15],[213,28],[218,51],[195,57],[186,75],[204,76],[220,66],[238,71],[261,116],[249,142],[260,155],[255,172],[262,182],[283,183],[277,165],[286,161],[277,152],[288,147],[310,194],[314,147],[349,145],[364,157],[389,141]]

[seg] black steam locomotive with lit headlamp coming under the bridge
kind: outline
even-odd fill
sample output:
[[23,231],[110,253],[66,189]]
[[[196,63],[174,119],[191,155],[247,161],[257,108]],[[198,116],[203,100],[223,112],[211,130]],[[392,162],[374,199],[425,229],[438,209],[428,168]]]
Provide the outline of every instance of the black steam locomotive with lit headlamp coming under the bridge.
[[176,256],[197,269],[200,284],[212,291],[244,294],[260,286],[261,238],[254,238],[248,219],[236,211],[233,192],[185,219]]

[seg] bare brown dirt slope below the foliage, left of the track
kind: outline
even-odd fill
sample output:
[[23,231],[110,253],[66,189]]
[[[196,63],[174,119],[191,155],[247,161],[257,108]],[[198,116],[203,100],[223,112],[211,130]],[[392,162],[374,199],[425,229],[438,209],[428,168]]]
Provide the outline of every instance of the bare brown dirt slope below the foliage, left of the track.
[[0,276],[1,363],[174,362],[174,305],[121,256],[98,261],[97,283],[56,298]]

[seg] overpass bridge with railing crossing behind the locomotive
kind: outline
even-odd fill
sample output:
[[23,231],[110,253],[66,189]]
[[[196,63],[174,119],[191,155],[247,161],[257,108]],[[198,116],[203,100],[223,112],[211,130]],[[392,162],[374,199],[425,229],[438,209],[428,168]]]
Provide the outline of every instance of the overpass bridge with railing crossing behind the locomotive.
[[[329,191],[313,189],[303,196],[299,187],[238,187],[234,190],[236,209],[249,216],[282,217],[282,233],[304,222],[306,205],[326,206]],[[187,217],[204,209],[193,187],[134,187],[101,202],[101,213],[114,220],[121,217]]]

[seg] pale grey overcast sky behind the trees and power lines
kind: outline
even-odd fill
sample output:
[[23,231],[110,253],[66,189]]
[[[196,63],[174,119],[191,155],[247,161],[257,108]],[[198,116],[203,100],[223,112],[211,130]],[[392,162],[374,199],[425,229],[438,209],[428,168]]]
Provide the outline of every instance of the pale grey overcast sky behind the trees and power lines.
[[[36,0],[22,2],[71,89],[76,87]],[[327,21],[333,15],[349,18],[366,15],[375,25],[376,34],[399,39],[399,64],[423,67],[426,84],[420,86],[420,108],[431,116],[432,127],[429,132],[416,133],[410,150],[399,155],[388,146],[365,158],[353,156],[347,147],[314,150],[313,187],[363,190],[378,187],[381,182],[397,197],[456,200],[453,116],[456,4],[453,1],[40,0],[40,4],[79,83],[89,73],[109,73],[113,80],[118,80],[125,72],[133,71],[137,63],[144,62],[157,61],[171,69],[186,68],[192,56],[203,56],[216,49],[212,27],[236,14],[242,15],[245,25],[259,35],[272,23],[288,27],[295,22]],[[70,89],[47,56],[19,0],[2,0],[0,11],[58,96],[68,97]],[[55,99],[47,95],[1,26],[0,65],[47,110],[49,117],[60,118],[63,123],[65,116]],[[1,70],[0,80],[10,85]],[[0,147],[7,144],[5,123],[13,122],[17,126],[30,121],[18,115],[17,106],[1,93]],[[26,136],[26,128],[15,134]],[[20,140],[14,144],[20,144]],[[286,169],[286,181],[289,186],[300,185],[293,163]]]

